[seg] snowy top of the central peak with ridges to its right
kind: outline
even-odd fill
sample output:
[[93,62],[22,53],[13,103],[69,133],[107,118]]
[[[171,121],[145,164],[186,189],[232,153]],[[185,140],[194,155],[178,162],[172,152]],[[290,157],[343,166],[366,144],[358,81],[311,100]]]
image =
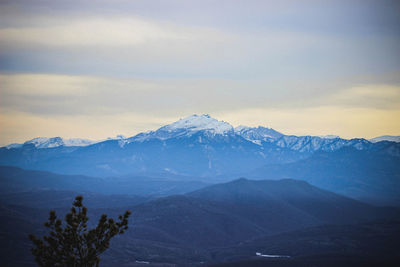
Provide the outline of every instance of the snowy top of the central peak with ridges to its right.
[[132,138],[121,140],[120,147],[131,142],[143,142],[150,139],[167,140],[176,137],[188,137],[196,132],[204,131],[211,135],[236,135],[259,146],[274,144],[280,148],[288,148],[299,152],[314,152],[317,150],[335,151],[344,146],[364,149],[368,146],[365,139],[346,140],[336,135],[328,136],[294,136],[284,135],[274,129],[262,126],[238,126],[233,128],[227,122],[218,121],[209,115],[192,115],[174,123],[163,126],[156,131],[140,133]]

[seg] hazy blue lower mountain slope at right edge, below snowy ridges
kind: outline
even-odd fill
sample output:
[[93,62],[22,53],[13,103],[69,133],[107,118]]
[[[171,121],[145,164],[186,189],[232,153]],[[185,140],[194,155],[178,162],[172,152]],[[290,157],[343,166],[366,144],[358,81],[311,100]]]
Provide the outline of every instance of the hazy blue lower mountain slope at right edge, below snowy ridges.
[[381,151],[348,147],[319,151],[286,164],[266,164],[244,174],[252,179],[298,179],[358,200],[400,206],[400,160]]

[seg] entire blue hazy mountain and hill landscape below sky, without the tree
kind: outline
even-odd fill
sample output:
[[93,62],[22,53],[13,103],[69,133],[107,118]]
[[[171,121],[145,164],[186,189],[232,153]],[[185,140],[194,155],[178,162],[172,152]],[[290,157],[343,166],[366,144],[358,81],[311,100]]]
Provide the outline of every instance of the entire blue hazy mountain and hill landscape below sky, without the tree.
[[63,215],[78,194],[90,218],[133,212],[105,266],[248,266],[259,264],[256,253],[291,257],[274,266],[399,261],[394,141],[290,136],[193,115],[129,138],[35,138],[0,148],[0,165],[8,266],[33,266],[27,235],[43,234],[48,209]]

